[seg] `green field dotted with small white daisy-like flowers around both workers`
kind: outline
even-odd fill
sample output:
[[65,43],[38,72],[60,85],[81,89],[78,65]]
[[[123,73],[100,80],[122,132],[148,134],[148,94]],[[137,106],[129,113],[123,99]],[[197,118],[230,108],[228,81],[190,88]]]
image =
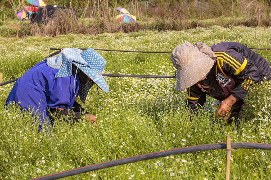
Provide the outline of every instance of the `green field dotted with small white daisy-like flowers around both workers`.
[[[257,39],[254,40],[254,30]],[[0,72],[4,81],[21,76],[45,56],[50,47],[93,47],[125,50],[168,51],[178,44],[222,41],[270,47],[271,28],[196,28],[187,31],[130,34],[63,35],[51,37],[0,38]],[[149,42],[151,47],[149,49]],[[52,53],[54,51],[49,51]],[[261,56],[270,51],[256,50]],[[103,55],[103,52],[101,52]],[[105,52],[107,73],[173,75],[170,53]],[[270,142],[271,83],[254,86],[247,99],[246,119],[239,131],[227,124],[213,124],[216,101],[207,98],[206,111],[191,123],[184,108],[185,91],[176,93],[175,79],[105,78],[109,93],[93,87],[85,108],[98,117],[92,126],[82,119],[70,124],[57,119],[52,137],[39,132],[33,117],[18,113],[14,105],[4,109],[13,84],[0,87],[0,177],[28,179],[72,168],[160,150],[226,141]],[[270,179],[271,154],[266,150],[232,151],[231,179]],[[224,179],[225,150],[195,152],[130,163],[64,179]],[[174,175],[173,175],[174,173]],[[171,176],[172,175],[172,176]]]

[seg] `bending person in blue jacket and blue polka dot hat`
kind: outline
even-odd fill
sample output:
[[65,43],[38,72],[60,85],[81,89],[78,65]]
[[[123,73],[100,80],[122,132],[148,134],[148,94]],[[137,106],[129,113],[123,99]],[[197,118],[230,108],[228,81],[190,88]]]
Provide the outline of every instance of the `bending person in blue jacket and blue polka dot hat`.
[[49,114],[67,116],[69,121],[78,121],[83,115],[87,121],[95,122],[96,117],[84,112],[76,99],[79,96],[84,103],[93,84],[109,91],[102,77],[105,64],[105,59],[92,48],[63,49],[58,56],[45,58],[24,73],[14,84],[5,106],[19,104],[40,122],[40,130],[53,125],[54,118]]

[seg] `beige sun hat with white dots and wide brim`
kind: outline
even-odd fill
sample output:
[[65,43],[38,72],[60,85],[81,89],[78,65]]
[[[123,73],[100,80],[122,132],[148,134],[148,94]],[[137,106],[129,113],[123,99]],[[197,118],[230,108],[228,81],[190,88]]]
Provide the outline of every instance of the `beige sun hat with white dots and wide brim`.
[[174,48],[170,56],[177,69],[176,90],[182,91],[200,81],[213,67],[217,56],[202,42],[185,42]]

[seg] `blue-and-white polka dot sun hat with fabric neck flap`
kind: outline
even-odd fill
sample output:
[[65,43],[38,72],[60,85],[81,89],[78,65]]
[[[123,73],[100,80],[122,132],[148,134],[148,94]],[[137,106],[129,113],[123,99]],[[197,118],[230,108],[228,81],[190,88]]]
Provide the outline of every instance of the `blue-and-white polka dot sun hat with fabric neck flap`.
[[[106,60],[94,49],[88,48],[82,51],[78,48],[65,48],[58,56],[44,58],[46,64],[54,69],[59,69],[54,79],[72,75],[72,64],[85,73],[97,86],[106,93],[109,87],[102,76]],[[79,87],[79,96],[85,102],[89,89],[93,86],[88,82]]]

